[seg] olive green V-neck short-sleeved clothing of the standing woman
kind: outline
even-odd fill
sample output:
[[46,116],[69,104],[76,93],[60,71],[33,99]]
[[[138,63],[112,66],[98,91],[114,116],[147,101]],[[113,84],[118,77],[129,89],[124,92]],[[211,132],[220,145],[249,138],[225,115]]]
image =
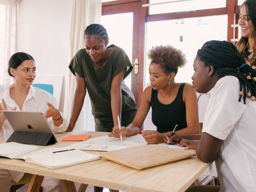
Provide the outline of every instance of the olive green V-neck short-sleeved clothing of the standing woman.
[[[69,64],[69,69],[84,78],[91,100],[92,115],[100,121],[113,122],[111,110],[110,88],[112,79],[124,69],[124,79],[132,71],[132,64],[123,49],[112,44],[114,51],[108,57],[106,64],[96,68],[85,49],[79,50]],[[134,96],[130,89],[122,82],[122,125],[127,126],[133,120],[137,110]],[[128,124],[127,124],[128,123]],[[111,127],[112,130],[113,127]]]

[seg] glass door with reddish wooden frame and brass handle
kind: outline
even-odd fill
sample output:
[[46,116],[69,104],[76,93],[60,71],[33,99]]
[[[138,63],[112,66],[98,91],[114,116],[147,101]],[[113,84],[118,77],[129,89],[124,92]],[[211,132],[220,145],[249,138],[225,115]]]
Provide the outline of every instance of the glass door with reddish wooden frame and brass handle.
[[[115,44],[124,49],[133,65],[132,73],[125,79],[138,104],[139,78],[143,78],[143,62],[140,63],[140,1],[120,4],[102,4],[101,24],[106,28],[109,44]],[[136,20],[137,19],[137,20]],[[143,21],[144,22],[144,21]],[[143,38],[142,38],[143,39]],[[144,42],[144,40],[142,40]],[[139,61],[138,71],[135,70],[135,60]],[[137,63],[137,62],[136,62]],[[137,68],[136,66],[136,68]],[[143,87],[143,82],[141,82]]]

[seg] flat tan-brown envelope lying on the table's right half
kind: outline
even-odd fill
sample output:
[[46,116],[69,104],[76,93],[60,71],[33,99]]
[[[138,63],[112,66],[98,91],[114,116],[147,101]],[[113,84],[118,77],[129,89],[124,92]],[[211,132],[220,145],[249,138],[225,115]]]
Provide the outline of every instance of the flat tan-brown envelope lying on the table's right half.
[[196,151],[167,148],[161,145],[141,145],[102,153],[102,158],[141,170],[195,156]]

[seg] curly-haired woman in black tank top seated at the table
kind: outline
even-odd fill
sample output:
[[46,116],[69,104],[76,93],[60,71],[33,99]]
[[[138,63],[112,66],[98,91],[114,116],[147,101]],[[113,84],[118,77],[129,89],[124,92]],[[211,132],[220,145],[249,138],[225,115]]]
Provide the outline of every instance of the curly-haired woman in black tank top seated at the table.
[[[121,131],[114,128],[109,137],[135,135],[139,132],[149,108],[152,108],[152,122],[156,131],[142,131],[148,144],[167,142],[175,125],[181,134],[197,134],[199,129],[196,92],[192,85],[176,83],[174,77],[179,67],[186,63],[185,55],[171,45],[156,46],[148,52],[150,86],[142,93],[137,113],[127,127]],[[147,129],[147,128],[146,128]]]

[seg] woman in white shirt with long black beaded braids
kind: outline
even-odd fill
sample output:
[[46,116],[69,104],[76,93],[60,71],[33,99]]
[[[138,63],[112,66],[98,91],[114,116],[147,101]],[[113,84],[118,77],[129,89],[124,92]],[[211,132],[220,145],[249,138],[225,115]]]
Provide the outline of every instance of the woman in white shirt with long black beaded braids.
[[255,191],[255,67],[227,41],[206,42],[193,67],[195,90],[210,98],[202,134],[175,133],[167,143],[196,149],[206,163],[215,160],[220,186],[191,186],[188,191]]

